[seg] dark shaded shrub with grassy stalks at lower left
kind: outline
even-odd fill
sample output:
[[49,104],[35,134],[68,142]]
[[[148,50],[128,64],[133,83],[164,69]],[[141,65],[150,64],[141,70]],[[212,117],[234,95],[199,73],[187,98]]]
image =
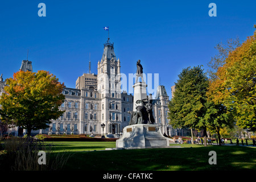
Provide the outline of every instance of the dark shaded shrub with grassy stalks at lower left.
[[[39,171],[60,169],[71,156],[68,152],[52,153],[51,144],[32,137],[5,140],[5,160],[9,168],[17,171]],[[46,164],[38,163],[38,152],[46,152]],[[54,158],[51,157],[54,155]]]

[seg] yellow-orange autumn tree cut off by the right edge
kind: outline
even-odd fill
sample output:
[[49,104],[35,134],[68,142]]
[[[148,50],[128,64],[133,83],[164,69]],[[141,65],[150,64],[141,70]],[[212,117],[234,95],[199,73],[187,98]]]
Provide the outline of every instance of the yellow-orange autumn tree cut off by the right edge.
[[229,53],[209,85],[214,103],[224,104],[243,129],[256,131],[256,31]]

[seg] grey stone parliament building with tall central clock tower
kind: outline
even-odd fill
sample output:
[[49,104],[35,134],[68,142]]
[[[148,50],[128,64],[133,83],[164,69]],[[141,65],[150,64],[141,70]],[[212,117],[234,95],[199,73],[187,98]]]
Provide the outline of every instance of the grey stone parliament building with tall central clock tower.
[[[90,66],[89,66],[90,67]],[[32,71],[32,62],[22,61],[22,71]],[[65,113],[59,119],[52,120],[48,129],[36,130],[36,134],[86,134],[101,136],[104,123],[104,135],[112,134],[119,138],[122,129],[129,125],[133,111],[133,95],[121,92],[118,85],[118,74],[121,73],[121,61],[116,58],[114,44],[108,41],[104,44],[101,60],[97,64],[97,75],[85,73],[76,80],[76,88],[64,88],[65,101],[59,107]],[[0,77],[0,96],[3,92],[2,75]],[[183,135],[168,124],[169,96],[163,85],[159,85],[156,98],[153,100],[153,115],[156,125],[160,125],[162,134],[174,136]],[[14,127],[10,133],[20,135],[20,129]],[[23,134],[26,130],[22,130]]]

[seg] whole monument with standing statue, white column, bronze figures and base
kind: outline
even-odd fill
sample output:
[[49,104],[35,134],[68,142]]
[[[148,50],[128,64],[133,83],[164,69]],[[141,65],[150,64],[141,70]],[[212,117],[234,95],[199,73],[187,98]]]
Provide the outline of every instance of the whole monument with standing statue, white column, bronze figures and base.
[[[155,124],[152,112],[152,94],[147,96],[147,84],[143,80],[141,60],[137,61],[137,73],[134,88],[133,111],[129,125],[123,129],[123,135],[116,141],[116,148],[168,147],[169,139],[164,137]],[[141,82],[138,78],[141,77]]]

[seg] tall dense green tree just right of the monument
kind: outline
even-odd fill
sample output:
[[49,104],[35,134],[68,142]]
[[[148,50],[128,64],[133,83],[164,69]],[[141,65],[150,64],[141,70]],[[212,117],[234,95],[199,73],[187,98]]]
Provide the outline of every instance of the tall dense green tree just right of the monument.
[[185,68],[175,83],[174,98],[168,105],[170,124],[176,128],[204,129],[205,145],[207,126],[204,122],[204,105],[207,102],[207,88],[208,78],[201,66]]

